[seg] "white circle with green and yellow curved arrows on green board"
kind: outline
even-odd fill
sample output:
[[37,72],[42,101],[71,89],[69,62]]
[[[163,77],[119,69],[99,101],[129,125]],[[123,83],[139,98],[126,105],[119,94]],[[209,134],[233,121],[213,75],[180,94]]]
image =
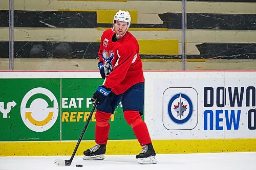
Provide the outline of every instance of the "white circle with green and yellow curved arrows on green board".
[[27,92],[20,105],[24,124],[35,132],[44,132],[56,122],[59,107],[54,94],[42,87]]

